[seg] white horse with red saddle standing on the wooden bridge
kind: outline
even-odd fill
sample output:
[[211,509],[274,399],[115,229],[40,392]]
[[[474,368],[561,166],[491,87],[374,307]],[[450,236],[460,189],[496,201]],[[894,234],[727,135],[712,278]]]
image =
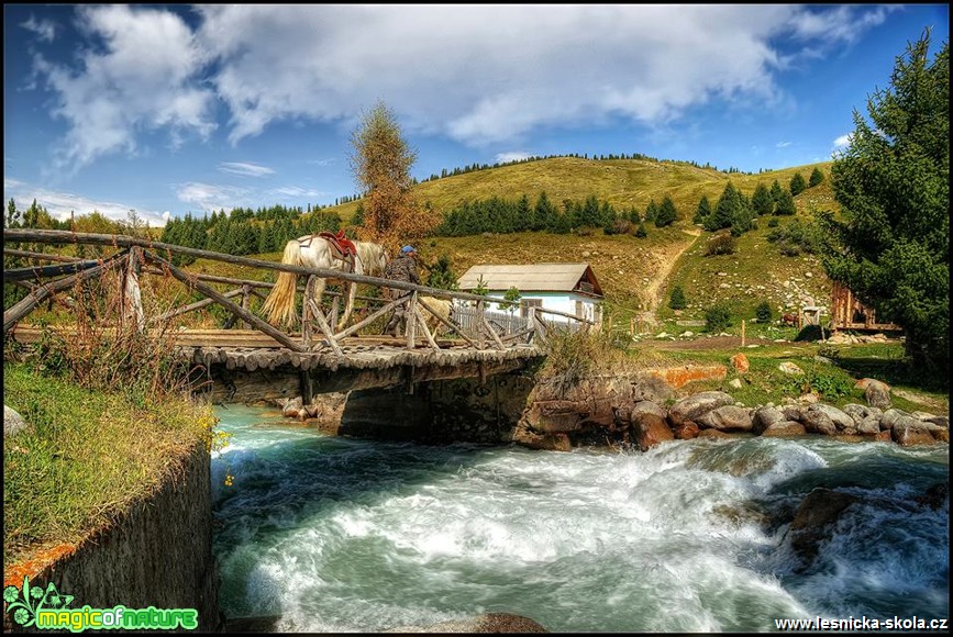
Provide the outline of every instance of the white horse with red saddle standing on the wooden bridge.
[[[336,257],[336,250],[331,246],[331,243],[319,235],[307,235],[289,241],[285,245],[281,262],[310,268],[325,268],[367,277],[383,277],[388,261],[387,252],[384,249],[384,246],[370,242],[353,243],[357,248],[357,255],[353,258],[353,270],[351,269],[351,262]],[[324,295],[326,284],[329,282],[342,283],[347,302],[344,306],[344,314],[337,323],[337,329],[343,329],[354,309],[354,297],[357,294],[357,286],[351,281],[315,278],[318,279],[318,283],[314,290],[314,300],[319,306],[321,305],[321,297]],[[278,275],[278,280],[272,289],[272,293],[268,294],[265,304],[262,305],[262,311],[267,314],[269,322],[284,325],[295,324],[295,289],[297,282],[298,276],[293,272],[281,272]]]

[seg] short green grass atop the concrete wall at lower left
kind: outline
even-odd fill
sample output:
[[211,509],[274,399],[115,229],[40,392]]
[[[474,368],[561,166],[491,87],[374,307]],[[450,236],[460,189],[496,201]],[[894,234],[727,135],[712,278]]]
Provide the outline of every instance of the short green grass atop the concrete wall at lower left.
[[3,567],[71,544],[159,487],[211,412],[185,400],[131,404],[4,362],[3,402],[29,423],[3,439]]

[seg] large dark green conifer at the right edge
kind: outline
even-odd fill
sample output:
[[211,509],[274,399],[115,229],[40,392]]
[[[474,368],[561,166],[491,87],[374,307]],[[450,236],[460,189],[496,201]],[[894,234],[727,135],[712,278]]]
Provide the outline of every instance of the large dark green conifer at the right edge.
[[950,54],[930,60],[930,31],[897,57],[890,87],[854,111],[847,148],[831,167],[843,216],[820,215],[828,276],[880,320],[904,327],[907,355],[950,368]]

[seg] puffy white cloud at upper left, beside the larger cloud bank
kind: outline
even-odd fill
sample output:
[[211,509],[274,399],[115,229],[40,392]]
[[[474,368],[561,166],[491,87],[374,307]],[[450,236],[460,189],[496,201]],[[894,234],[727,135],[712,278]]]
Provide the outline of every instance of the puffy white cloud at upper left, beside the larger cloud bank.
[[196,81],[207,57],[186,23],[168,11],[111,4],[78,8],[80,26],[101,47],[79,54],[77,69],[37,57],[35,70],[57,94],[53,110],[69,125],[54,170],[75,171],[107,153],[134,152],[136,135],[214,130],[211,90]]

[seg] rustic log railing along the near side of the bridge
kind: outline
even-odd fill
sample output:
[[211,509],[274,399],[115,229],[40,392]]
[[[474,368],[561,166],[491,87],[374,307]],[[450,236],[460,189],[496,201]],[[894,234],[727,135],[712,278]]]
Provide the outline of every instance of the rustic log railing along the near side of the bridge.
[[[126,300],[130,302],[126,311],[126,318],[135,321],[135,324],[140,329],[144,329],[148,324],[168,320],[186,312],[199,310],[215,303],[230,312],[234,318],[240,321],[243,325],[267,334],[280,345],[293,351],[311,351],[314,347],[326,345],[336,354],[342,354],[341,342],[344,338],[356,334],[359,329],[367,327],[377,318],[385,316],[401,305],[403,306],[405,315],[408,318],[406,328],[408,348],[414,348],[419,337],[423,337],[430,347],[440,348],[434,337],[434,332],[431,331],[429,324],[435,324],[437,327],[442,327],[445,332],[456,335],[467,345],[477,349],[486,349],[488,347],[505,349],[527,344],[532,345],[536,339],[545,340],[547,333],[551,333],[553,329],[569,328],[567,327],[568,324],[566,322],[547,321],[545,318],[546,314],[568,318],[572,322],[575,322],[577,328],[588,328],[594,325],[591,321],[586,318],[554,310],[544,310],[542,308],[530,308],[529,315],[525,318],[514,316],[513,313],[494,313],[488,310],[490,304],[498,304],[498,306],[511,306],[513,304],[511,301],[494,297],[442,290],[439,288],[418,286],[403,281],[391,281],[377,277],[342,272],[328,268],[311,268],[240,257],[125,235],[11,228],[4,232],[3,242],[4,244],[32,243],[53,245],[99,245],[111,246],[118,249],[117,254],[109,258],[102,260],[88,260],[78,257],[46,255],[13,248],[8,249],[4,247],[4,254],[8,255],[29,257],[33,259],[46,259],[64,264],[4,270],[4,283],[11,282],[31,288],[30,293],[23,300],[9,310],[3,311],[4,334],[45,299],[70,288],[78,281],[98,277],[102,275],[103,271],[117,268],[124,272],[125,287],[129,292],[125,294]],[[336,320],[337,298],[335,298],[332,303],[331,320],[329,320],[329,316],[325,315],[324,311],[321,308],[318,308],[314,300],[309,297],[308,291],[311,286],[306,284],[306,297],[303,302],[310,310],[309,314],[318,324],[318,329],[323,336],[323,343],[312,340],[310,326],[307,324],[302,328],[301,338],[297,339],[290,334],[269,324],[250,310],[251,298],[257,297],[264,299],[262,291],[274,287],[274,283],[253,279],[217,277],[212,275],[188,272],[173,265],[171,255],[174,254],[218,260],[254,269],[265,269],[279,272],[285,271],[306,277],[343,280],[378,289],[389,289],[391,291],[397,290],[398,292],[391,292],[390,294],[390,297],[397,297],[395,300],[385,301],[381,306],[370,311],[369,315],[357,321],[350,327],[335,333],[331,328],[331,325]],[[138,277],[142,273],[170,276],[178,279],[188,289],[203,295],[204,299],[170,310],[160,315],[146,317],[143,315],[142,305],[140,304],[136,306],[134,302],[135,299],[138,299]],[[42,280],[57,275],[65,276],[35,288],[27,283],[31,279]],[[212,288],[210,283],[224,283],[236,287],[228,292],[220,292]],[[241,297],[240,302],[234,302],[233,299],[239,297]],[[385,294],[385,297],[387,297],[387,294]],[[364,299],[367,301],[379,301],[378,299],[373,298]],[[454,311],[450,314],[441,312],[441,309],[435,306],[440,300],[450,302]]]

